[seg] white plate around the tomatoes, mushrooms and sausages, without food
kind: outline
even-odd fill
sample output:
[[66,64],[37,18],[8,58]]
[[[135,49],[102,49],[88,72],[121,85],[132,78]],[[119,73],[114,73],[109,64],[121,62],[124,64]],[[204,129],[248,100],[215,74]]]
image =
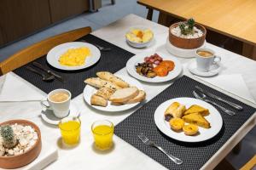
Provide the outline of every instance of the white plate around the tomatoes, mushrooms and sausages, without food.
[[[170,71],[166,77],[148,78],[148,77],[143,77],[143,76],[139,75],[136,71],[135,66],[138,63],[143,63],[145,57],[150,56],[155,53],[159,54],[160,57],[162,57],[164,60],[172,60],[175,64],[173,71]],[[133,56],[131,59],[129,59],[126,63],[126,70],[129,72],[129,74],[132,77],[135,77],[138,80],[141,80],[144,82],[167,82],[167,81],[170,81],[170,80],[176,78],[181,73],[181,71],[183,70],[183,65],[181,65],[181,63],[179,62],[178,59],[176,59],[175,57],[172,57],[172,55],[170,55],[170,54],[165,54],[165,53],[161,53],[161,52],[145,52],[145,53],[137,54],[137,55]]]

